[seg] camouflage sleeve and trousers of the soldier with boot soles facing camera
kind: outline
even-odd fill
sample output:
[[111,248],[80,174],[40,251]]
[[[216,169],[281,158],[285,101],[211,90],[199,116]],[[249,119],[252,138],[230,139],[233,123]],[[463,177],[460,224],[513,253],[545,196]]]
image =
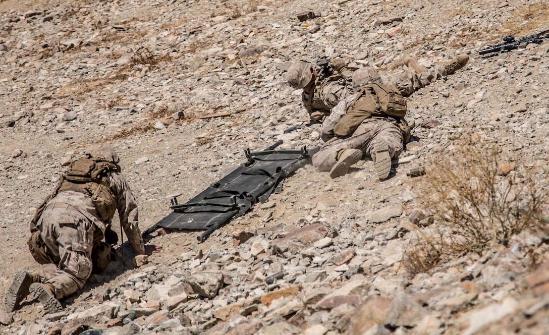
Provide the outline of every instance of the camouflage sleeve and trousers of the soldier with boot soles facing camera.
[[318,172],[330,171],[337,161],[338,153],[343,149],[358,149],[362,151],[362,154],[371,156],[376,141],[379,141],[379,139],[384,139],[389,145],[391,158],[398,157],[404,149],[399,127],[386,119],[366,119],[362,121],[352,135],[334,137],[335,125],[349,109],[355,98],[356,94],[352,94],[342,100],[332,109],[332,113],[328,118],[324,120],[321,137],[326,143],[312,157],[312,164]]

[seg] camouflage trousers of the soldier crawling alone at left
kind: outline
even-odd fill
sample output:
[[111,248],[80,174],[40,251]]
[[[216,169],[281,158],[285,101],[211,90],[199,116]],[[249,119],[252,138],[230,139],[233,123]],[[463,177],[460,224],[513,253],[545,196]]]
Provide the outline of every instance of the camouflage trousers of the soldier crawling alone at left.
[[79,291],[92,273],[93,233],[96,226],[79,210],[64,203],[50,203],[38,220],[40,236],[61,259],[58,266],[44,266],[43,283],[55,288],[55,298]]

